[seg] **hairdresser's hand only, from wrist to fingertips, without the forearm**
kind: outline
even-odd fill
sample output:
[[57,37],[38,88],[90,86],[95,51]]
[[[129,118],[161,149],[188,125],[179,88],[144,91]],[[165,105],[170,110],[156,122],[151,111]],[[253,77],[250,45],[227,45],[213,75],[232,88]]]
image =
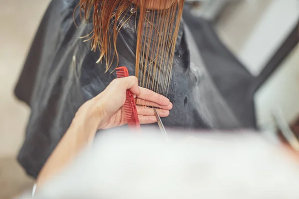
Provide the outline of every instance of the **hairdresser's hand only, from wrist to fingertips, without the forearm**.
[[157,107],[161,117],[169,115],[172,103],[157,93],[139,87],[138,80],[134,76],[112,81],[102,93],[82,105],[77,115],[87,115],[85,121],[96,122],[98,129],[124,125],[127,123],[123,110],[127,90],[130,90],[137,97],[137,111],[141,124],[157,121],[153,109],[141,105]]

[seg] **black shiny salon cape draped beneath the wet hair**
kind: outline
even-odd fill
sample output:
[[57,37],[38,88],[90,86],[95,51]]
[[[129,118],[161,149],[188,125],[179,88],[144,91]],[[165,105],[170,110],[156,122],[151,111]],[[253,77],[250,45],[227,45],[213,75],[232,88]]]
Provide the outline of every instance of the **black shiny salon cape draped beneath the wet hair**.
[[[76,10],[76,28],[73,12],[78,2],[51,1],[15,88],[16,97],[31,107],[18,161],[34,177],[80,105],[116,78],[112,70],[105,73],[104,62],[96,64],[99,51],[92,52],[90,42],[80,39],[91,32],[92,23],[82,21]],[[132,19],[124,26],[117,43],[119,66],[127,66],[130,74],[135,74],[134,25]],[[162,119],[166,128],[255,127],[253,80],[220,42],[212,25],[193,18],[185,7],[167,96],[173,109]]]

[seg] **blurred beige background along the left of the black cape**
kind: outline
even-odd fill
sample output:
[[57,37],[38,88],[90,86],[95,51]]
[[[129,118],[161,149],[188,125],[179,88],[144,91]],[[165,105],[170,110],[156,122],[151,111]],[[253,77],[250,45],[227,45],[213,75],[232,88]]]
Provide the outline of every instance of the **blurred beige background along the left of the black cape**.
[[0,199],[32,189],[16,162],[29,108],[13,96],[27,50],[50,0],[0,0]]

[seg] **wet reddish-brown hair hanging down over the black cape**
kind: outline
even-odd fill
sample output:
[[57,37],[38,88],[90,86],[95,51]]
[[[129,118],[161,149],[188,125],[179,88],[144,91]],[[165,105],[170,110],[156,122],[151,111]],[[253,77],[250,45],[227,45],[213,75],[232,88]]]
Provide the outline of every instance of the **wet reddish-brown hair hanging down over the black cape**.
[[94,28],[86,40],[93,51],[100,50],[97,63],[105,60],[106,72],[114,60],[118,65],[118,33],[138,14],[135,75],[140,86],[166,94],[183,5],[184,0],[80,0],[85,19],[92,18]]

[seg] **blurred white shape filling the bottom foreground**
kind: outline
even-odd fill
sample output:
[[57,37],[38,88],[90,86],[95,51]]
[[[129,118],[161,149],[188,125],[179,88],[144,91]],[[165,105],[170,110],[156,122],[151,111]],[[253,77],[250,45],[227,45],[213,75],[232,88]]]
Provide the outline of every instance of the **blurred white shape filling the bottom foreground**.
[[299,198],[296,158],[263,137],[151,131],[98,136],[34,199]]

